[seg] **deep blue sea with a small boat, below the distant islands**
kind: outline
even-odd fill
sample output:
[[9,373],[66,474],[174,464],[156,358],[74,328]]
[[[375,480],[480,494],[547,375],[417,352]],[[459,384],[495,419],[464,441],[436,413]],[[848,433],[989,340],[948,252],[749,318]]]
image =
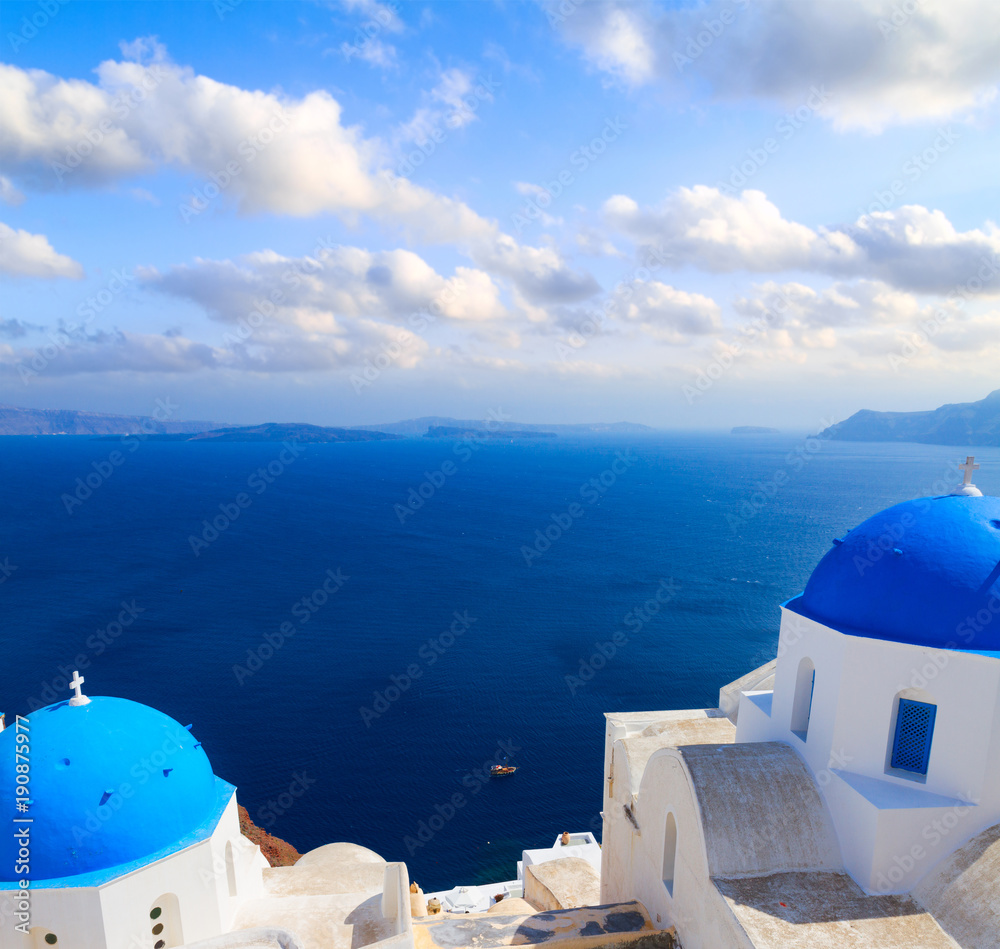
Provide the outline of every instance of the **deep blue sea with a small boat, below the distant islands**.
[[[194,723],[261,826],[405,860],[428,891],[599,832],[602,713],[714,706],[774,656],[832,538],[966,454],[805,434],[0,452],[0,709],[80,668]],[[1000,450],[976,454],[997,493]],[[517,773],[484,780],[505,755]]]

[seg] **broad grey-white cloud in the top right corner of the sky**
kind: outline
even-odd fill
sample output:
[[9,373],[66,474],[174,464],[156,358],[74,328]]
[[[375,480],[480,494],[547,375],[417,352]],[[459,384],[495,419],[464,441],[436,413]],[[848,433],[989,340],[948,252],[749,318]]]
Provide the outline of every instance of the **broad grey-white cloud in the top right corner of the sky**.
[[[549,6],[558,13],[558,2]],[[909,6],[912,13],[905,12]],[[797,105],[814,84],[840,128],[939,121],[991,102],[1000,84],[1000,6],[893,0],[713,0],[666,7],[586,3],[552,15],[564,39],[613,80],[705,85],[720,100]]]

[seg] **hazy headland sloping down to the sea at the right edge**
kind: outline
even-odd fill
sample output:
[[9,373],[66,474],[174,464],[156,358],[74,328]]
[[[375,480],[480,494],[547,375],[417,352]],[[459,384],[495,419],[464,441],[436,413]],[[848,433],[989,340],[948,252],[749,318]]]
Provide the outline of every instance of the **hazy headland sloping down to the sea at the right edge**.
[[1000,446],[1000,389],[979,402],[955,402],[928,412],[862,409],[819,433],[852,442]]

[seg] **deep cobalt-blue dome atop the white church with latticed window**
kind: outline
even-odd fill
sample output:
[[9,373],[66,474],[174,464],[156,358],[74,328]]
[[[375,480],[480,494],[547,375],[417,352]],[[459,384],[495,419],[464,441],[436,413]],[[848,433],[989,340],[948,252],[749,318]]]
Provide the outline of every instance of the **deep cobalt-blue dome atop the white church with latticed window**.
[[1000,651],[1000,498],[905,501],[835,542],[788,603],[844,633]]

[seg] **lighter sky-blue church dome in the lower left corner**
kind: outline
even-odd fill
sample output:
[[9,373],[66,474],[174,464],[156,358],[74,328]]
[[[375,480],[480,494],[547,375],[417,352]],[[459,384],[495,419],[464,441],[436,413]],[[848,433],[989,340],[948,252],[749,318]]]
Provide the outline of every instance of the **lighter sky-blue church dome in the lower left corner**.
[[[59,702],[27,716],[31,879],[107,870],[188,838],[216,810],[208,756],[172,718],[138,702]],[[15,728],[0,732],[0,819],[17,817]],[[0,881],[16,844],[0,835]]]

